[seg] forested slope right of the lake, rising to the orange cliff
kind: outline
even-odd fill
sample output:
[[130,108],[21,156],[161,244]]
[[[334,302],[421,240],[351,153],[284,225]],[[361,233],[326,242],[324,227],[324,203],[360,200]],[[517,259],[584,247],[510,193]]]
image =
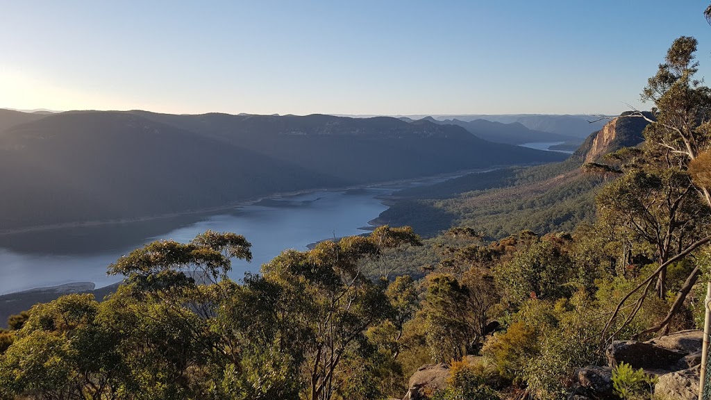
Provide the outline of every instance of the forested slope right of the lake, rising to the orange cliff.
[[583,172],[582,164],[643,142],[648,122],[626,115],[629,113],[589,135],[565,162],[497,169],[405,189],[394,194],[394,204],[377,221],[410,225],[423,236],[457,225],[474,228],[489,238],[503,238],[524,229],[572,231],[578,223],[592,221],[594,194],[609,178]]

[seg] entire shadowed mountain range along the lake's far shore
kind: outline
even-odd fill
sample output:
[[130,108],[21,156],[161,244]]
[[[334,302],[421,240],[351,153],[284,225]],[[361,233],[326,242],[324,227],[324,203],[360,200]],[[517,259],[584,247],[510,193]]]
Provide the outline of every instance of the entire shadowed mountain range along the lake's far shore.
[[0,110],[0,231],[563,158],[392,117]]

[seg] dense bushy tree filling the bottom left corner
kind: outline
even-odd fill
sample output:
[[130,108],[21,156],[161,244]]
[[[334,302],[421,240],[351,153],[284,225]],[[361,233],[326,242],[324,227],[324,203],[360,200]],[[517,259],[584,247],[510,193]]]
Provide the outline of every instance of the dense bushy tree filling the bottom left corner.
[[117,399],[127,365],[102,327],[92,295],[65,295],[32,307],[0,361],[0,387],[43,399]]

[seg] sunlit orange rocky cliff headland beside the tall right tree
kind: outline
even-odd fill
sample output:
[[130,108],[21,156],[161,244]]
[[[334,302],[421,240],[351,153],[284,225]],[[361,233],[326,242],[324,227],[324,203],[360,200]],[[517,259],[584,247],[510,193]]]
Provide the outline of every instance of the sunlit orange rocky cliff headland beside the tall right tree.
[[[645,113],[647,117],[651,114]],[[649,122],[641,117],[623,112],[619,117],[607,122],[601,130],[593,132],[575,152],[584,162],[597,162],[620,147],[634,147],[644,142],[642,132]]]

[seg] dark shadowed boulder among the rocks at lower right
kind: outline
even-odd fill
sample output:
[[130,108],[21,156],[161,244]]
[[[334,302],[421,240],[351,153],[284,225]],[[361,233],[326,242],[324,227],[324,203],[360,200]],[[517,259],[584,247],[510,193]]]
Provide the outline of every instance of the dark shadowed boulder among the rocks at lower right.
[[677,370],[676,364],[687,355],[687,352],[636,340],[616,340],[607,348],[609,367],[616,367],[624,362],[634,369],[643,368],[653,374]]

